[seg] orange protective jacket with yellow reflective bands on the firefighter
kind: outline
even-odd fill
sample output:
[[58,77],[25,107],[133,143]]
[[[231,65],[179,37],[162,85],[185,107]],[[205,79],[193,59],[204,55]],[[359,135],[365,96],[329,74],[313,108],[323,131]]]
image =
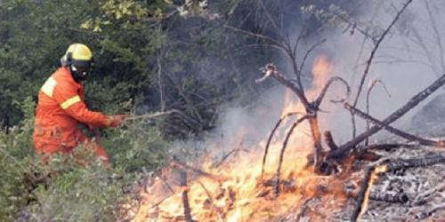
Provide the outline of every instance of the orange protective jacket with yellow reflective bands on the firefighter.
[[38,93],[34,146],[37,153],[69,153],[80,143],[93,144],[96,155],[109,158],[77,128],[79,123],[106,126],[107,115],[85,106],[84,86],[72,77],[69,67],[59,68]]

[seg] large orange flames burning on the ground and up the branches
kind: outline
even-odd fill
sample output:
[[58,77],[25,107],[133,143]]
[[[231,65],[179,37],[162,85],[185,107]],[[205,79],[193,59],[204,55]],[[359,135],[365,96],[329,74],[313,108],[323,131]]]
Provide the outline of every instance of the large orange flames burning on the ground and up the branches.
[[[320,92],[331,69],[332,65],[326,56],[320,56],[315,60],[312,67],[313,87],[307,92],[308,96],[314,97]],[[286,93],[282,115],[289,112],[303,114],[304,107],[295,99],[291,99],[295,95],[291,91]],[[295,117],[293,118],[289,119],[295,121]],[[318,176],[312,173],[312,170],[306,169],[306,156],[312,153],[313,148],[307,123],[295,129],[288,142],[281,168],[283,170],[280,173],[281,189],[279,195],[275,194],[273,186],[277,181],[275,174],[279,163],[279,151],[286,133],[287,131],[283,130],[272,140],[263,180],[261,179],[263,148],[252,147],[249,153],[232,155],[229,161],[222,164],[214,164],[212,158],[199,164],[199,169],[221,179],[196,177],[196,175],[190,178],[189,186],[186,188],[192,218],[198,221],[270,221],[280,215],[299,210],[304,201],[320,192],[323,193],[327,206],[336,206],[338,209],[344,204],[341,202],[344,196],[338,188],[341,187],[339,186],[341,181]],[[264,147],[264,144],[264,141],[261,142],[259,147]],[[235,148],[237,147],[233,147]],[[173,177],[169,175],[167,178],[155,178],[148,189],[143,189],[143,201],[139,208],[134,209],[134,221],[183,220],[184,187],[176,187],[173,191],[166,189],[166,183]]]

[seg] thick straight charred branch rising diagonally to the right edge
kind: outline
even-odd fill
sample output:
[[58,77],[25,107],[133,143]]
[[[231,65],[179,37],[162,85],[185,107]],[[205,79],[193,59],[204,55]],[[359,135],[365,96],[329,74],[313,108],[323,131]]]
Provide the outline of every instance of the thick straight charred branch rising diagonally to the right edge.
[[[434,91],[437,91],[441,86],[445,83],[445,75],[442,75],[439,79],[434,81],[430,86],[426,87],[425,90],[420,91],[415,95],[412,99],[409,99],[409,101],[401,108],[396,110],[392,113],[392,115],[389,115],[386,117],[382,123],[384,125],[389,125],[393,123],[394,121],[401,118],[402,115],[405,115],[409,112],[413,107],[416,107],[421,101],[426,99],[429,95],[431,95]],[[328,158],[338,158],[346,154],[346,152],[354,149],[361,141],[364,139],[367,139],[369,136],[374,135],[377,131],[380,131],[382,129],[382,126],[373,126],[369,131],[362,132],[359,136],[352,139],[349,142],[346,142],[344,145],[339,147],[337,150],[334,150],[328,154]]]

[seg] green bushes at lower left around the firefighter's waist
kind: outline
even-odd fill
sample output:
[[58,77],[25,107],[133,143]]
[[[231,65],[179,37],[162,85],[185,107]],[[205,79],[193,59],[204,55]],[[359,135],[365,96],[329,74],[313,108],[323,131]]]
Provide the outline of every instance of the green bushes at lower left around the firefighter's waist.
[[157,126],[137,122],[103,131],[111,168],[85,146],[43,164],[32,144],[35,104],[16,105],[25,118],[0,131],[0,221],[115,221],[131,198],[126,187],[166,162],[169,146]]

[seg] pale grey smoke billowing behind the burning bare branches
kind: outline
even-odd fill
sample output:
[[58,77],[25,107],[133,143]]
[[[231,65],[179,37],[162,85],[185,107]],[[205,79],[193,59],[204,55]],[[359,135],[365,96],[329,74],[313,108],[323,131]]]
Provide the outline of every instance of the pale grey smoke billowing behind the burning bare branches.
[[[376,35],[378,38],[404,3],[405,1],[399,0],[368,1],[356,9],[356,15],[351,20],[365,24],[361,28],[367,27],[370,32],[376,32],[374,34],[378,34]],[[358,104],[361,110],[366,110],[368,86],[376,79],[384,83],[390,96],[382,85],[377,85],[369,97],[369,113],[378,119],[384,119],[418,91],[425,89],[438,76],[445,73],[443,65],[445,62],[441,58],[444,51],[441,50],[439,44],[445,44],[440,39],[441,36],[445,36],[445,27],[440,26],[440,21],[445,20],[444,15],[440,13],[444,8],[445,3],[441,0],[414,1],[409,4],[408,9],[402,13],[400,20],[392,27],[391,32],[384,38],[376,52],[367,81],[361,91]],[[432,20],[435,21],[435,27]],[[295,24],[289,20],[285,25],[288,30],[294,30],[290,36],[295,39],[299,35],[301,24]],[[344,27],[339,26],[328,28],[321,36],[303,42],[299,55],[303,57],[312,43],[321,38],[326,38],[327,41],[312,52],[303,70],[305,88],[309,91],[314,89],[312,65],[320,56],[327,56],[332,64],[332,71],[328,76],[341,76],[350,83],[352,93],[348,101],[352,103],[369,54],[375,44],[369,38],[365,40],[365,36],[357,30],[354,30],[352,34],[351,28],[344,31]],[[286,64],[285,60],[273,62],[279,65]],[[263,65],[258,64],[258,67]],[[289,67],[283,65],[279,68],[287,72],[287,76],[292,77]],[[219,151],[216,153],[222,155],[239,147],[263,149],[271,129],[282,115],[283,107],[286,105],[285,94],[284,86],[277,85],[258,95],[248,106],[236,101],[225,104],[220,108],[222,115],[218,120],[219,127],[211,131],[200,146]],[[437,94],[433,94],[427,101]],[[352,138],[351,116],[341,104],[333,104],[329,101],[343,96],[344,86],[334,84],[320,107],[322,112],[319,113],[321,131],[332,131],[337,144],[342,144]],[[295,99],[295,96],[293,98]],[[424,106],[427,101],[421,105]],[[412,128],[411,118],[420,108],[421,106],[411,110],[408,115],[403,116],[393,125],[402,129]],[[358,133],[366,130],[364,121],[357,119],[357,123]],[[289,123],[281,126],[276,138],[282,139],[288,126]],[[310,132],[305,133],[310,134]],[[381,131],[373,139],[385,139],[388,136],[388,133]]]

